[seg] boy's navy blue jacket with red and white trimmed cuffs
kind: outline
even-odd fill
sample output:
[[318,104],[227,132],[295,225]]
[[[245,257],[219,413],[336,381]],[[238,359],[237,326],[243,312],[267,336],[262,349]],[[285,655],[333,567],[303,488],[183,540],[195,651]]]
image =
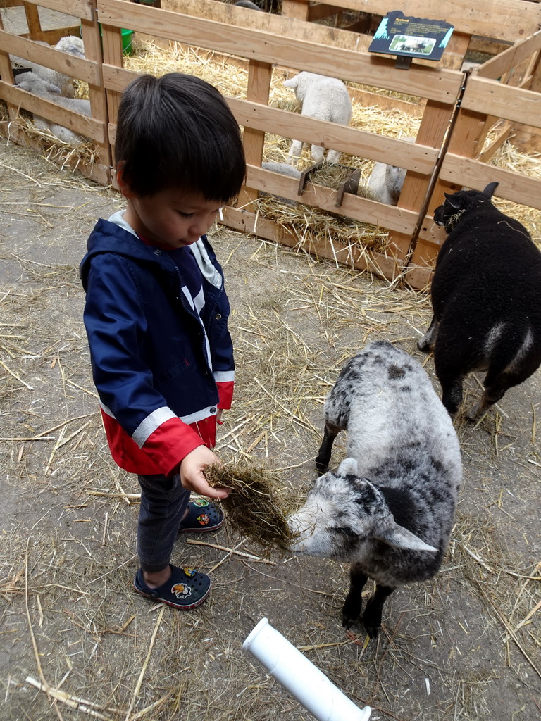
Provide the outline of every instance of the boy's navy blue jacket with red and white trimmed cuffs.
[[229,408],[234,381],[224,275],[203,236],[190,246],[201,269],[201,321],[181,291],[167,250],[100,219],[80,273],[94,384],[115,461],[170,474],[201,445],[190,424]]

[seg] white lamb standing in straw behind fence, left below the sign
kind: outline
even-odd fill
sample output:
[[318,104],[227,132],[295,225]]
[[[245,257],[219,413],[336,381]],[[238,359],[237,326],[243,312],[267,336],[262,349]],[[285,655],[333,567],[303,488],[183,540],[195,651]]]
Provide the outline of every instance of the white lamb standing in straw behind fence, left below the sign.
[[[349,125],[351,120],[351,99],[348,89],[341,80],[328,78],[325,75],[307,73],[303,71],[289,80],[284,86],[294,89],[296,99],[302,103],[302,115],[308,115],[317,120],[327,120],[330,123]],[[296,164],[302,153],[303,142],[294,140],[291,143],[287,162]],[[319,145],[312,145],[312,159],[315,162],[323,158],[324,149]],[[327,161],[338,163],[340,151],[330,150]]]

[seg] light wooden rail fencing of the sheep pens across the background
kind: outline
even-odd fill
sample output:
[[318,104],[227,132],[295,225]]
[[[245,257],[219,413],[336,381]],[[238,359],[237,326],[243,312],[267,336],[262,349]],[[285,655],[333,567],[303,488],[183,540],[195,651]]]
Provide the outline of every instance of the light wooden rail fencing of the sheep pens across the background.
[[[32,4],[25,1],[25,6]],[[309,22],[310,14],[315,12],[320,17],[343,9],[364,14],[386,12],[381,1],[376,0],[336,0],[325,6],[304,0],[283,0],[282,16],[253,12],[215,0],[162,0],[161,9],[126,0],[72,0],[69,11],[66,0],[40,0],[40,6],[69,12],[80,19],[86,59],[66,56],[34,40],[0,30],[0,99],[4,99],[9,112],[9,120],[0,123],[0,132],[23,141],[15,122],[18,108],[22,107],[93,138],[97,143],[97,162],[82,170],[97,182],[107,184],[112,180],[110,167],[118,99],[126,84],[136,76],[123,68],[121,29],[129,27],[145,35],[225,53],[248,67],[245,97],[226,98],[244,128],[248,172],[239,207],[225,209],[224,223],[290,246],[299,244],[296,236],[258,217],[255,206],[251,205],[260,191],[299,200],[298,181],[261,167],[265,133],[302,138],[363,159],[394,164],[408,170],[397,206],[346,193],[337,208],[335,190],[312,183],[302,195],[302,202],[307,205],[388,229],[389,241],[384,252],[359,250],[356,253],[351,246],[315,243],[309,239],[304,248],[353,267],[371,267],[387,278],[395,278],[408,266],[408,282],[420,288],[426,286],[430,278],[442,240],[441,234],[430,230],[428,208],[434,210],[444,191],[468,185],[470,180],[473,182],[470,187],[480,187],[488,177],[487,182],[501,178],[496,195],[503,198],[520,198],[522,203],[531,198],[535,200],[532,206],[537,208],[535,203],[539,203],[537,198],[541,197],[539,190],[535,190],[540,181],[523,179],[509,171],[496,173],[496,169],[486,165],[488,156],[480,158],[479,151],[480,141],[496,120],[508,122],[503,138],[506,133],[509,135],[515,122],[540,127],[536,125],[540,123],[539,113],[522,112],[521,108],[537,104],[541,97],[535,90],[525,89],[537,81],[541,8],[537,3],[524,0],[485,0],[473,8],[471,2],[469,5],[465,0],[395,0],[394,9],[419,17],[441,17],[456,28],[446,53],[444,64],[448,67],[414,61],[409,70],[402,70],[395,67],[394,58],[367,52],[368,35]],[[490,12],[487,12],[489,6]],[[101,39],[98,20],[102,26]],[[457,68],[474,35],[492,38],[496,45],[499,43],[496,52],[509,49],[467,77]],[[482,42],[486,48],[488,41]],[[31,58],[87,81],[92,118],[67,112],[14,87],[6,53]],[[417,105],[410,105],[410,110],[421,118],[415,143],[270,107],[273,66],[361,83],[366,90],[357,91],[356,97],[372,104],[390,101],[369,88],[418,98]],[[506,84],[510,80],[516,87]],[[509,105],[509,99],[513,105],[518,103],[516,110],[511,110],[513,105]]]

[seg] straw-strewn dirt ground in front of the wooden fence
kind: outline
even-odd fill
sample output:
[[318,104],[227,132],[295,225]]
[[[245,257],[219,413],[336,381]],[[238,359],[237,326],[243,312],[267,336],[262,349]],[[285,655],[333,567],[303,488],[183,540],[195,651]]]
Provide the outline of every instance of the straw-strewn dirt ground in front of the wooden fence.
[[[77,275],[120,198],[5,141],[0,178],[1,718],[308,720],[242,652],[266,616],[373,721],[540,719],[540,373],[480,423],[455,421],[464,482],[447,559],[390,598],[376,642],[340,625],[346,566],[260,557],[230,529],[175,549],[211,573],[203,606],[153,605],[131,588],[138,487],[107,452]],[[428,298],[227,229],[211,239],[237,348],[217,453],[279,469],[296,505],[339,368],[377,338],[421,358]],[[466,389],[472,402],[478,380]]]

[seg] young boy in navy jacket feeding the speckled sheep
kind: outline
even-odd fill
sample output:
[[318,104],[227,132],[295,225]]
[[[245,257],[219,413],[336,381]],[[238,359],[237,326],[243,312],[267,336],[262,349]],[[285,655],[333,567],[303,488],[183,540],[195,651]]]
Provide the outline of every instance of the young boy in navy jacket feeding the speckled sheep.
[[234,382],[224,275],[205,233],[245,177],[239,126],[205,81],[144,75],[120,101],[115,162],[127,208],[97,222],[81,264],[92,373],[113,459],[141,485],[133,585],[193,609],[211,580],[170,557],[177,534],[224,522],[190,491],[228,493],[202,472]]

